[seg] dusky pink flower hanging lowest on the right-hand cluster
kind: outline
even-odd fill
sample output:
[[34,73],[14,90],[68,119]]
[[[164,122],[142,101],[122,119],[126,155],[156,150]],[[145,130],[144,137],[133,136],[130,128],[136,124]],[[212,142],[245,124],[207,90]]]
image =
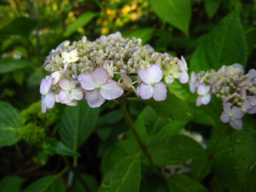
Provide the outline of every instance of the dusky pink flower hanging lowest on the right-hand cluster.
[[230,108],[230,105],[228,105],[226,102],[223,102],[223,109],[224,111],[221,113],[221,121],[229,122],[233,128],[241,130],[243,128],[243,123],[241,121],[241,109],[236,106]]

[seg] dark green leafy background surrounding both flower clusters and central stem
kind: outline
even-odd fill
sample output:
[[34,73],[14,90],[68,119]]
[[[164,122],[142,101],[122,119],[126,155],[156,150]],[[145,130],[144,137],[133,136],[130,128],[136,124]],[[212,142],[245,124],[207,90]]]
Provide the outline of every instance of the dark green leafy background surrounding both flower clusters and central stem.
[[164,102],[126,102],[166,179],[151,169],[115,102],[92,109],[83,99],[43,114],[39,101],[45,56],[82,35],[136,36],[157,52],[183,55],[189,73],[255,68],[256,1],[0,0],[0,21],[3,192],[256,191],[255,119],[246,116],[241,131],[224,125],[221,101],[198,108],[187,84],[168,84]]

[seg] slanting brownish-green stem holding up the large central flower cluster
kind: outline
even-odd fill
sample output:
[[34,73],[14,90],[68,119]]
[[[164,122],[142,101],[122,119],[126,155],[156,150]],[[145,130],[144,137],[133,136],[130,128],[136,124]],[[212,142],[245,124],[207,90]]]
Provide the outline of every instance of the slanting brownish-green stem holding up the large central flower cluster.
[[148,161],[149,161],[149,164],[150,166],[152,167],[152,169],[154,170],[154,172],[160,176],[161,178],[163,179],[166,179],[157,169],[156,167],[154,166],[154,162],[152,160],[152,157],[151,155],[148,153],[148,148],[147,148],[147,145],[145,145],[143,143],[143,141],[141,140],[140,138],[140,135],[139,133],[137,132],[137,129],[135,128],[132,120],[131,120],[131,117],[128,113],[128,110],[126,108],[126,105],[125,105],[125,100],[123,98],[120,98],[119,99],[119,105],[121,107],[121,110],[122,110],[122,113],[124,114],[124,117],[125,117],[125,120],[129,126],[129,128],[131,129],[131,132],[134,134],[134,137],[136,138],[137,142],[139,143],[140,145],[140,148],[141,150],[143,150],[144,154],[146,155],[146,157],[148,158]]

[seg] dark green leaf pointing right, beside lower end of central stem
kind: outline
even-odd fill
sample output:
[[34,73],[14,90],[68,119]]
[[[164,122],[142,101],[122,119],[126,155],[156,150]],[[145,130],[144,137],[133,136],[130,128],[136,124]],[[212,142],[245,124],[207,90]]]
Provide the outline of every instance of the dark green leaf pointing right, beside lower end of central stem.
[[205,153],[204,148],[195,140],[184,135],[173,135],[163,142],[148,148],[154,163],[173,165]]

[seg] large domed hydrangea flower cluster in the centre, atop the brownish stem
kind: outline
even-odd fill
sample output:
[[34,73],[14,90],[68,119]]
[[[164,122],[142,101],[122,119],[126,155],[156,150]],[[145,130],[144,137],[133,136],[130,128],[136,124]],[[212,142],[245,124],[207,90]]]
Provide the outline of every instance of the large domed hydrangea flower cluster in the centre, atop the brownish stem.
[[148,44],[142,46],[141,41],[123,38],[116,32],[96,41],[87,41],[85,36],[73,44],[64,41],[52,49],[43,66],[52,74],[41,81],[42,112],[55,102],[75,106],[84,92],[91,108],[122,96],[124,90],[142,99],[163,101],[167,96],[163,75],[166,83],[174,79],[188,82],[183,57],[179,60],[168,53],[155,52]]

